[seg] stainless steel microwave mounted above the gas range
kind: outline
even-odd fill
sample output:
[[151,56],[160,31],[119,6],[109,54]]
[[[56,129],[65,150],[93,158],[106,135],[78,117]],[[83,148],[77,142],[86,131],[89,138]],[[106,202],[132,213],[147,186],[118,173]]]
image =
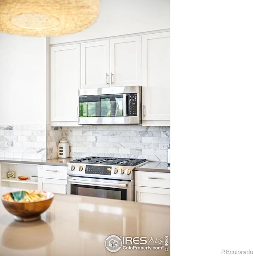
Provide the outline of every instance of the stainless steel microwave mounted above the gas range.
[[79,89],[78,124],[140,124],[141,86]]

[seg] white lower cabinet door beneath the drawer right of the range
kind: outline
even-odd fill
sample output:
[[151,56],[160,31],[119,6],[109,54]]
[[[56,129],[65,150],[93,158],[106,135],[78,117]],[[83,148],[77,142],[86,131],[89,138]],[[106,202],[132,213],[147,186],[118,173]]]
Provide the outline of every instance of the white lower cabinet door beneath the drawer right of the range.
[[134,192],[136,202],[170,205],[170,189],[135,186]]

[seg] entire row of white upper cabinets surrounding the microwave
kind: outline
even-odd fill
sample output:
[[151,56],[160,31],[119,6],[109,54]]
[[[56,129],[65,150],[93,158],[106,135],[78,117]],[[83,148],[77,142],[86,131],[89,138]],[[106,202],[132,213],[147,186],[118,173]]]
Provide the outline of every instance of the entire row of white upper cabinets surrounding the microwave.
[[142,125],[170,125],[170,32],[51,47],[51,125],[77,126],[78,89],[142,86]]

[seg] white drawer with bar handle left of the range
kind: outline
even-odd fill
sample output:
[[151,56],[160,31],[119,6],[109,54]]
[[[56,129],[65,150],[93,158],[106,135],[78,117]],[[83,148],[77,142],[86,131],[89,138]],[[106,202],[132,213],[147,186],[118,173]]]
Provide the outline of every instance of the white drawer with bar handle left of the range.
[[38,165],[38,178],[67,180],[67,166]]

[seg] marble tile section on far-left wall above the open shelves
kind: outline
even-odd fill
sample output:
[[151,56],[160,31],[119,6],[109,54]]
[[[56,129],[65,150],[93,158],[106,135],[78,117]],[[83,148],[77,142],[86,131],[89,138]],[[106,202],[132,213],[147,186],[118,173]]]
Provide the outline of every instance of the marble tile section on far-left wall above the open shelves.
[[0,124],[0,157],[46,159],[46,125]]

